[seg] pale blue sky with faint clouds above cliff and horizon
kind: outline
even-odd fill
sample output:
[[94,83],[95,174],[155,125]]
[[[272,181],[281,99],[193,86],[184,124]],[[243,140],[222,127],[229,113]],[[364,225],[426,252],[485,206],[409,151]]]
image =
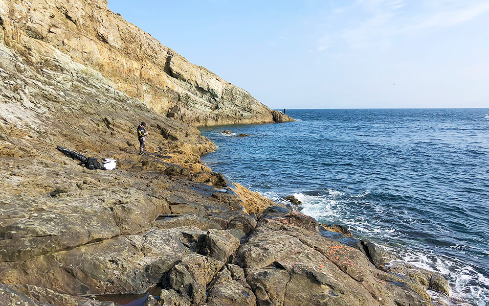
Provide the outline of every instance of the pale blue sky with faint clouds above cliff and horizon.
[[109,0],[274,109],[489,108],[489,0]]

